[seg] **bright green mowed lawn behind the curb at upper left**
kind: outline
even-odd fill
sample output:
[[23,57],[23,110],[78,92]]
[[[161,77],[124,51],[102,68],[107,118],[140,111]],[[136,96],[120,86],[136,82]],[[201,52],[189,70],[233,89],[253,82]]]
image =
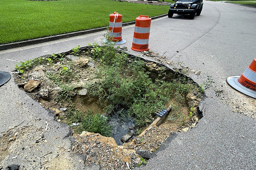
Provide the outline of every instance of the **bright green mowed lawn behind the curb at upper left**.
[[114,11],[123,15],[125,23],[168,10],[169,6],[112,0],[0,0],[0,44],[107,26]]

